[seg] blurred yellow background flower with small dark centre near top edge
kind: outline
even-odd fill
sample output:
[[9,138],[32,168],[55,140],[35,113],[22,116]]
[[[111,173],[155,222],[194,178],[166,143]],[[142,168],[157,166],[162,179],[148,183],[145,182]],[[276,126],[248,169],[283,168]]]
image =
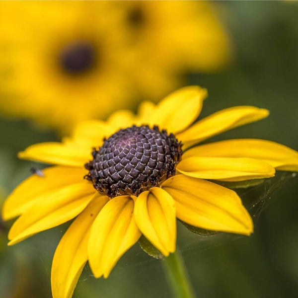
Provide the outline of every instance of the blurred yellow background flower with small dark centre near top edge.
[[[122,19],[131,36],[131,56],[142,61],[135,74],[140,92],[159,99],[181,84],[186,72],[215,72],[231,60],[230,38],[207,1],[122,1]],[[153,53],[153,55],[152,55]]]

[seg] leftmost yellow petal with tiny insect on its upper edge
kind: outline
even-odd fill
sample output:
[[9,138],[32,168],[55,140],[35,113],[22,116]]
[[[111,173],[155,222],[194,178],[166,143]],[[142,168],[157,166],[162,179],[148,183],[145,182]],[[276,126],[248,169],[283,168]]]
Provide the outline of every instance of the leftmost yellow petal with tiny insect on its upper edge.
[[44,176],[30,176],[18,185],[5,200],[4,220],[14,218],[59,189],[83,181],[86,170],[82,167],[53,166],[42,170]]

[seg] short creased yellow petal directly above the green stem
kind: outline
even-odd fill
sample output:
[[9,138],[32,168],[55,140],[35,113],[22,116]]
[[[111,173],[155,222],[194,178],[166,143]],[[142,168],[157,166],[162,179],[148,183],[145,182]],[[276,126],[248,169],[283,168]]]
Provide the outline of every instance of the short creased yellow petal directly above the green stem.
[[176,208],[163,189],[152,187],[136,200],[135,219],[144,236],[165,256],[176,249]]

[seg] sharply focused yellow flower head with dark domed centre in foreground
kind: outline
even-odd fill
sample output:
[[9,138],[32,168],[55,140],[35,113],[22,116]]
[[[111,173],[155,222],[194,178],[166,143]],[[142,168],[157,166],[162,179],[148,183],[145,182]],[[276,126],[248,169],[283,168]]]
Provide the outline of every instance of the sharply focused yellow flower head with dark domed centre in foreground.
[[120,110],[106,122],[82,122],[61,143],[19,153],[54,166],[29,177],[5,201],[3,218],[19,216],[8,244],[75,218],[54,255],[54,298],[72,296],[87,261],[95,277],[107,278],[142,234],[168,256],[176,248],[176,218],[208,230],[252,233],[238,195],[214,181],[297,171],[298,152],[256,139],[198,145],[268,116],[266,109],[236,106],[194,123],[206,96],[206,89],[184,87],[156,106],[143,102],[137,115]]

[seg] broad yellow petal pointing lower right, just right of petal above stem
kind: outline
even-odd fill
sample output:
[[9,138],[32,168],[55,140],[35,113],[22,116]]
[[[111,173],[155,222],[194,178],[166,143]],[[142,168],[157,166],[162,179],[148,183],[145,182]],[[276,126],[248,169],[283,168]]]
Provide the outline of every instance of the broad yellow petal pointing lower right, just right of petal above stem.
[[177,218],[197,227],[249,235],[250,215],[237,194],[210,181],[176,175],[161,187],[176,202]]

